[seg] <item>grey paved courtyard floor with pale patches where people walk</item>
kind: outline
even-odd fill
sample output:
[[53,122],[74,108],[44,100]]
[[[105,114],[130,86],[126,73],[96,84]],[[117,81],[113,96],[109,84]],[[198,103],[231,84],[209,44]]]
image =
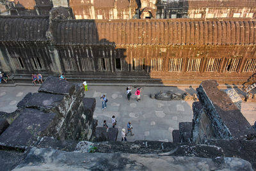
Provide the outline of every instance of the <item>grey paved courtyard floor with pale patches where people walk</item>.
[[[0,87],[0,111],[13,112],[16,105],[27,93],[37,92],[39,86],[16,85]],[[118,128],[118,141],[121,140],[120,131],[127,128],[131,121],[134,135],[127,135],[128,141],[134,140],[161,140],[172,142],[172,130],[179,129],[180,122],[191,122],[193,118],[192,104],[194,101],[160,101],[150,98],[150,94],[159,91],[172,91],[173,93],[196,93],[196,87],[143,87],[141,100],[136,101],[135,88],[132,89],[131,100],[127,100],[126,86],[124,85],[88,85],[86,98],[95,98],[96,108],[93,117],[102,126],[106,120],[111,127],[111,117],[116,116]],[[239,92],[238,92],[239,93]],[[100,96],[106,94],[108,107],[102,110]],[[243,102],[241,112],[250,124],[256,119],[256,103]]]

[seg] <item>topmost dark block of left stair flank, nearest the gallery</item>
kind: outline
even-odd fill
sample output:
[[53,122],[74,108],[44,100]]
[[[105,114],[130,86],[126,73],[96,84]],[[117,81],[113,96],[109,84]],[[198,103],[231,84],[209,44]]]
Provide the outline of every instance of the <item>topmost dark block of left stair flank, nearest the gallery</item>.
[[67,80],[49,76],[38,89],[38,92],[71,95],[76,90],[76,86]]

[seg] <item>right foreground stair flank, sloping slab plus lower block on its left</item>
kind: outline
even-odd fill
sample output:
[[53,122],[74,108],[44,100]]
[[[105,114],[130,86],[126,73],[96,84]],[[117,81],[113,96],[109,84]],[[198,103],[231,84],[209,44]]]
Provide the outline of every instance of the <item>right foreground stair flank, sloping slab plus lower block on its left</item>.
[[255,133],[239,108],[218,89],[215,80],[207,80],[196,89],[198,102],[193,104],[192,141],[204,143],[209,139],[243,139]]

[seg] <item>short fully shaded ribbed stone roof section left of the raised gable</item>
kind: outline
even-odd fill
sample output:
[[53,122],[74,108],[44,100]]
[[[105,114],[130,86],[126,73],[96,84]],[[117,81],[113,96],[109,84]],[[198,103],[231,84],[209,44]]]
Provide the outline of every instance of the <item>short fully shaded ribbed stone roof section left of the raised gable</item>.
[[46,41],[48,17],[0,17],[0,41]]

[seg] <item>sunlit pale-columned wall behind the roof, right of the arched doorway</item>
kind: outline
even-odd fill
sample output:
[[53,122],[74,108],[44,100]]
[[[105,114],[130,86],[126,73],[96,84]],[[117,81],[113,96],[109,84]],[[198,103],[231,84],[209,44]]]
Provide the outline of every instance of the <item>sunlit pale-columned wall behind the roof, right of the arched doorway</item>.
[[253,0],[209,1],[179,0],[157,1],[157,19],[212,19],[212,18],[255,18],[256,2]]

